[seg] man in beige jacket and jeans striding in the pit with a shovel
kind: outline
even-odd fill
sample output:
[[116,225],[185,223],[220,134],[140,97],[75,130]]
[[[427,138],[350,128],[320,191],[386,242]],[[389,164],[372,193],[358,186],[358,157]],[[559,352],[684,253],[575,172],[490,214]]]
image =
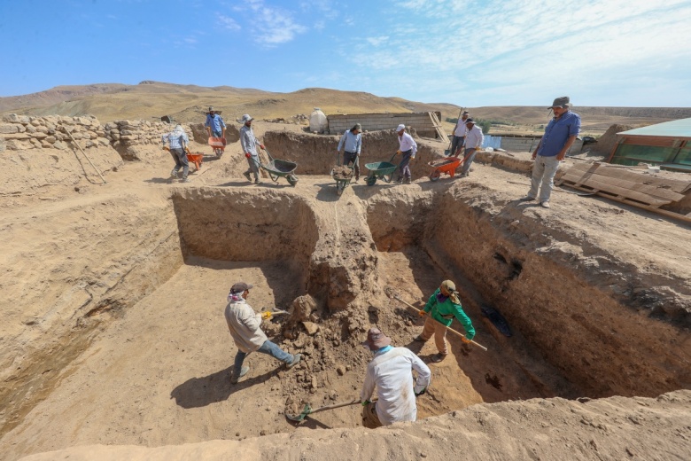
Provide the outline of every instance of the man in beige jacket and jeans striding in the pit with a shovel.
[[267,335],[261,331],[261,319],[271,318],[271,312],[257,314],[254,309],[247,304],[247,296],[250,294],[252,284],[237,282],[230,287],[228,294],[228,305],[226,306],[225,316],[228,323],[230,336],[235,340],[237,355],[235,356],[235,366],[233,376],[230,378],[231,384],[237,381],[250,371],[250,367],[243,366],[245,357],[256,351],[268,354],[286,364],[286,368],[291,369],[297,365],[302,357],[301,354],[288,354],[273,342],[269,341]]

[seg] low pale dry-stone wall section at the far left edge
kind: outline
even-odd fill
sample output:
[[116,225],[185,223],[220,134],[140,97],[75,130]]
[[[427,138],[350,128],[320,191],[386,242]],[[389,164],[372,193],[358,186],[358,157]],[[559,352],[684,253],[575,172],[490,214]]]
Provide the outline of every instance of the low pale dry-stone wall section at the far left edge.
[[29,149],[64,150],[70,142],[68,132],[79,142],[82,149],[110,145],[101,123],[91,115],[34,117],[10,113],[4,115],[0,123],[0,152]]

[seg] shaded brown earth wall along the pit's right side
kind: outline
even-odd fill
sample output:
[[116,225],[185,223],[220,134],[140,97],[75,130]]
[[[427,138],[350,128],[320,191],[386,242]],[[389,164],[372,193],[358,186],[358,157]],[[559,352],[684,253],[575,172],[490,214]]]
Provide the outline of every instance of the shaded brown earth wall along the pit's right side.
[[649,298],[628,295],[633,282],[625,274],[635,278],[635,268],[607,261],[598,248],[587,249],[602,253],[598,270],[578,263],[564,244],[550,242],[583,241],[569,241],[515,207],[488,211],[497,199],[491,204],[488,192],[473,184],[417,197],[406,192],[396,194],[395,207],[387,192],[373,195],[368,220],[377,248],[422,246],[447,273],[470,280],[585,395],[656,396],[691,386],[687,332],[674,316],[648,316]]

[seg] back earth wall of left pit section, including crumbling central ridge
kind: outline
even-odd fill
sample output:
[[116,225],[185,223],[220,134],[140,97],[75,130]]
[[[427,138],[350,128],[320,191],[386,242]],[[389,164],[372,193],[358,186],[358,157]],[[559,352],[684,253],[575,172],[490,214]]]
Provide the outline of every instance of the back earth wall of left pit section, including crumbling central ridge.
[[322,205],[291,190],[199,188],[178,191],[174,202],[187,256],[284,261],[302,273],[303,292],[331,312],[376,292],[374,242],[357,199]]

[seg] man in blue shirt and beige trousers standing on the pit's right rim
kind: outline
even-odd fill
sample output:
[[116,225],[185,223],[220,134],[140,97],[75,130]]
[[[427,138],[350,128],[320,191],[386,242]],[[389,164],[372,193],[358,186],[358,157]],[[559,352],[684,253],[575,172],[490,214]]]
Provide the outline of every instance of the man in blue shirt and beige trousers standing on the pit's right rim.
[[535,163],[532,165],[531,190],[522,199],[536,199],[540,188],[540,205],[545,208],[549,207],[549,196],[555,185],[559,162],[566,156],[566,152],[569,152],[580,131],[580,115],[571,112],[568,96],[556,98],[548,109],[553,111],[555,116],[547,123],[545,135],[532,152],[532,160],[535,160]]

